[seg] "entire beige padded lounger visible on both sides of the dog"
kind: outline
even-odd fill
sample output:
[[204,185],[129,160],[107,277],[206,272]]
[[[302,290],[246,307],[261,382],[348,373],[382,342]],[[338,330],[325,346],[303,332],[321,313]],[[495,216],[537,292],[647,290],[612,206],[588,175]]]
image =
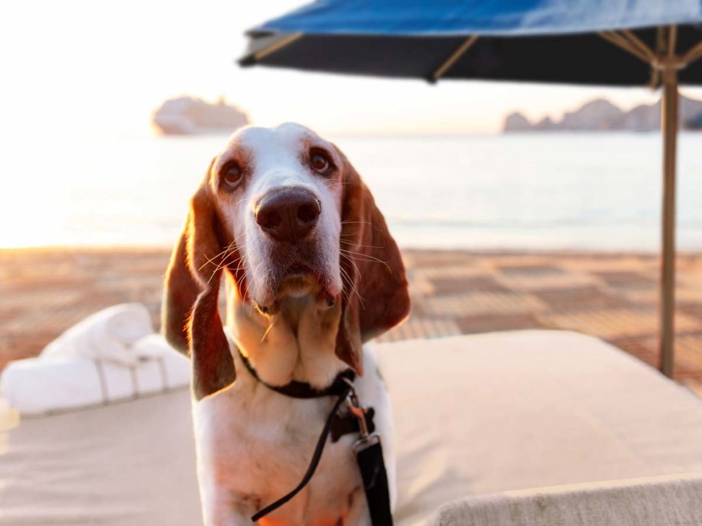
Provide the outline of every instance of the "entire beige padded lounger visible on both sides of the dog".
[[[702,524],[702,400],[613,346],[520,331],[376,349],[396,525]],[[201,524],[185,390],[2,434],[0,525]]]

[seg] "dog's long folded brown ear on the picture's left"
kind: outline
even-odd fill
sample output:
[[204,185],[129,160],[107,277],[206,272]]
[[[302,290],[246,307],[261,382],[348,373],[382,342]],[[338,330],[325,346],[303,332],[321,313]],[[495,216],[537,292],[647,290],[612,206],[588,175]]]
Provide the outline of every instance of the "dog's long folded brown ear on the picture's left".
[[234,362],[218,310],[221,265],[227,246],[218,219],[210,170],[190,201],[183,234],[166,271],[161,332],[192,358],[192,389],[197,400],[234,382]]

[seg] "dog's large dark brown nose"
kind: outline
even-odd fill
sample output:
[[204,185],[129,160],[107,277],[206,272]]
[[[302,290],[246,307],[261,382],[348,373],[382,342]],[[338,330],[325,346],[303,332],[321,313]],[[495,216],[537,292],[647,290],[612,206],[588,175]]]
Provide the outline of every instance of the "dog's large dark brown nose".
[[258,201],[256,222],[278,241],[298,241],[312,230],[322,205],[303,187],[274,189]]

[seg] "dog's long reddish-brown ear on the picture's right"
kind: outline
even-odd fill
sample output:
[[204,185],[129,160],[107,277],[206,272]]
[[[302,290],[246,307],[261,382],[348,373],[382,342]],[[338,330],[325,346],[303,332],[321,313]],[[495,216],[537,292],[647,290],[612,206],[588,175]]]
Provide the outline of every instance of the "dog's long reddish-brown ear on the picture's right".
[[409,291],[402,256],[371,192],[345,157],[342,172],[345,277],[336,355],[362,374],[362,344],[409,315]]

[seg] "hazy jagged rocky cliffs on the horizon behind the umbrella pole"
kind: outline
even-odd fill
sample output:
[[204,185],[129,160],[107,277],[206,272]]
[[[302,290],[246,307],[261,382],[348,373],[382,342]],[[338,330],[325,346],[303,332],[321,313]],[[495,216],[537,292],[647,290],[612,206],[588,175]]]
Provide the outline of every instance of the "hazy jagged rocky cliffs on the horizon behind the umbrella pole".
[[[680,126],[684,129],[702,127],[702,101],[680,97]],[[574,112],[567,112],[559,121],[545,117],[531,122],[519,112],[505,118],[503,131],[543,130],[632,130],[654,131],[661,128],[661,102],[641,104],[628,112],[609,100],[596,99],[586,102]]]

